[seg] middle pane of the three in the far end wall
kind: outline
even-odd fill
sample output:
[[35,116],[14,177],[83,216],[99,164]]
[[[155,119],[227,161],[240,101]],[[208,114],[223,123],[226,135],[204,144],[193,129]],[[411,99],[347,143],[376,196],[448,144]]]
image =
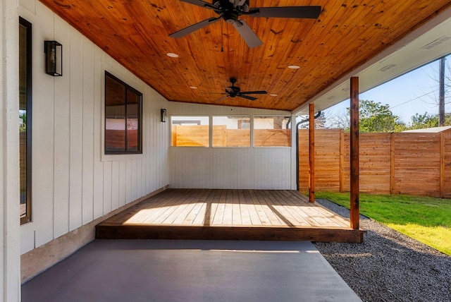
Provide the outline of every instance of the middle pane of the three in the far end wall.
[[213,116],[213,147],[250,147],[249,116]]

